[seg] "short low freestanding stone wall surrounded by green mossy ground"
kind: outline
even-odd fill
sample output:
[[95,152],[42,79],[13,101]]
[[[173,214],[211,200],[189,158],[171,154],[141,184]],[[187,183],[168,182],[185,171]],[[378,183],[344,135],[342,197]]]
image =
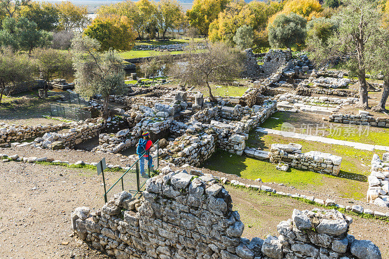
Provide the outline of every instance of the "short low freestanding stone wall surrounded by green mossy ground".
[[[285,163],[288,166],[324,174],[339,174],[341,157],[319,151],[301,153],[301,147],[301,145],[294,143],[289,143],[289,145],[272,144],[270,162]],[[279,164],[279,166],[281,167],[282,164]]]

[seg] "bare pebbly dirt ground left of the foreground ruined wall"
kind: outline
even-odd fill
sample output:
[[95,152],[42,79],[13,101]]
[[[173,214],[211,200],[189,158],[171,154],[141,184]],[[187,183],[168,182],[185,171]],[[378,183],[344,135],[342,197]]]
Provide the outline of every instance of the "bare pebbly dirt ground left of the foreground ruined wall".
[[0,258],[107,258],[69,236],[74,208],[104,204],[100,180],[87,175],[61,166],[2,163]]

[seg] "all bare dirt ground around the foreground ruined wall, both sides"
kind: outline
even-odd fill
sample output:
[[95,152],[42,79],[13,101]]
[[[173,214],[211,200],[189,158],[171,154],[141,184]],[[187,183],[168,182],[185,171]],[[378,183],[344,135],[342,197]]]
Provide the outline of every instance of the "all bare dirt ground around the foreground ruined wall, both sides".
[[[21,162],[1,163],[1,168],[0,258],[107,258],[70,237],[74,208],[98,209],[104,204],[101,178],[95,172]],[[246,224],[244,236],[250,238],[277,234],[276,226],[294,208],[313,208],[290,198],[226,188]],[[370,239],[389,259],[387,231],[386,222],[355,217],[350,233]]]

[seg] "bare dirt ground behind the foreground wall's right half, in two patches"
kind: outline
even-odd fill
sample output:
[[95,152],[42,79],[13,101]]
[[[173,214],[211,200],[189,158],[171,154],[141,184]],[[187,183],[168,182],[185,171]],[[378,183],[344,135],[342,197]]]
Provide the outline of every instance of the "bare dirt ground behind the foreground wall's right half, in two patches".
[[[237,210],[245,223],[242,237],[265,238],[278,236],[277,225],[292,216],[293,209],[312,210],[315,207],[292,199],[258,194],[254,191],[225,186],[232,197],[233,210]],[[389,259],[389,223],[353,216],[349,234],[356,239],[371,240],[381,251],[383,259]]]

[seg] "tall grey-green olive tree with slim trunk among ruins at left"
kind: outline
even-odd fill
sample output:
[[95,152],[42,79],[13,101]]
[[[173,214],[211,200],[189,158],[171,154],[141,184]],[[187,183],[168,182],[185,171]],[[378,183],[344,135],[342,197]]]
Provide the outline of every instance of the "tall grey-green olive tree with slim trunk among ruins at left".
[[76,91],[82,96],[102,95],[104,122],[108,118],[108,103],[111,93],[122,94],[124,84],[123,60],[113,51],[101,53],[97,40],[77,35],[72,41],[73,66]]

